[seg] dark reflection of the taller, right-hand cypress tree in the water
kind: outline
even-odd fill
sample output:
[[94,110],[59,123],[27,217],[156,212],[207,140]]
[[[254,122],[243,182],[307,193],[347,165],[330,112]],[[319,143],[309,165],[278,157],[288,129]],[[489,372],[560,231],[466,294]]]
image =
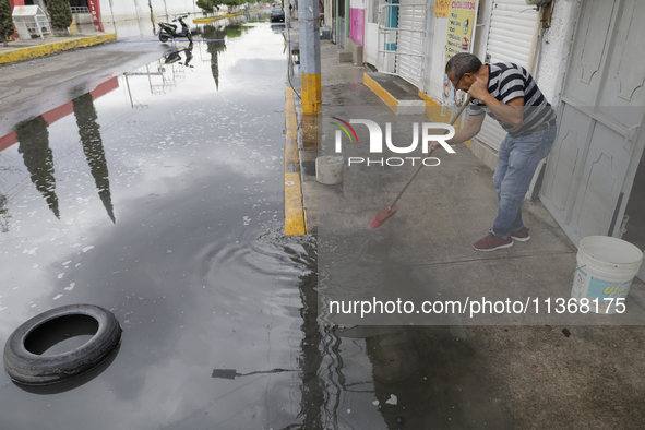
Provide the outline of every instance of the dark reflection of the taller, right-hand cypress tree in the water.
[[103,148],[103,140],[100,138],[100,126],[96,122],[98,117],[96,115],[96,109],[94,108],[94,98],[92,97],[92,94],[87,93],[73,99],[72,105],[74,107],[76,124],[79,126],[81,144],[83,145],[83,152],[85,153],[85,158],[89,165],[89,171],[94,178],[94,183],[98,190],[98,196],[100,198],[108,216],[112,223],[116,223],[115,208],[110,195],[107,160]]

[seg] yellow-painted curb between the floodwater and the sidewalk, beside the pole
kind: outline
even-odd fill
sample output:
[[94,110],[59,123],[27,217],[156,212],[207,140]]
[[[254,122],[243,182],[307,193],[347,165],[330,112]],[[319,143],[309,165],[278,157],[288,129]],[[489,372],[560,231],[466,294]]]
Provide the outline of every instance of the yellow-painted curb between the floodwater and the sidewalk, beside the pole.
[[298,121],[296,120],[294,89],[290,86],[285,88],[285,235],[306,235],[307,225],[298,155]]

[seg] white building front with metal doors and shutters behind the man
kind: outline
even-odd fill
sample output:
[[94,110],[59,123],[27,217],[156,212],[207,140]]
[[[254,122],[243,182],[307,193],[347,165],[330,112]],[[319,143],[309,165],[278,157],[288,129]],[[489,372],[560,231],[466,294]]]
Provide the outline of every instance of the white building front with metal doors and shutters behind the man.
[[[396,2],[353,0],[365,9],[365,62],[415,85],[428,106],[451,105],[443,85],[446,36],[455,22],[437,16],[435,8],[475,3],[476,27],[465,48],[483,62],[526,68],[558,112],[558,139],[534,178],[534,196],[576,246],[583,237],[606,235],[645,248],[645,1],[547,0],[539,9],[528,4],[539,0],[387,4]],[[394,33],[386,28],[393,26],[389,9],[397,10]],[[394,64],[379,59],[393,47]],[[470,150],[494,168],[504,135],[487,118]]]

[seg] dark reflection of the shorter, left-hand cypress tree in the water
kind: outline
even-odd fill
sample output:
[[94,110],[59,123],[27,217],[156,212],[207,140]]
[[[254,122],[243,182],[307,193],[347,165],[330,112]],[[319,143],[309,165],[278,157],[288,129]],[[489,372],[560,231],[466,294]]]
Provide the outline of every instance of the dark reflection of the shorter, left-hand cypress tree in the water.
[[49,147],[48,123],[43,116],[20,123],[15,129],[19,142],[17,152],[23,155],[25,167],[32,182],[47,201],[47,205],[57,218],[60,218],[56,178],[53,176],[53,155]]

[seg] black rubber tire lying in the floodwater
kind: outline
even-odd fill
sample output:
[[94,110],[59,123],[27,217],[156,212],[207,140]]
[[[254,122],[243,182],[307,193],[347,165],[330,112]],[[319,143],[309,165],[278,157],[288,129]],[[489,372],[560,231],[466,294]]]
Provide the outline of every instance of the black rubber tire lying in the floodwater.
[[[53,320],[86,315],[96,320],[98,330],[84,345],[71,351],[39,356],[27,350],[25,341],[36,329]],[[36,315],[17,327],[4,346],[4,370],[21,384],[56,384],[93,369],[115,350],[121,342],[121,326],[108,310],[94,304],[70,304]]]

